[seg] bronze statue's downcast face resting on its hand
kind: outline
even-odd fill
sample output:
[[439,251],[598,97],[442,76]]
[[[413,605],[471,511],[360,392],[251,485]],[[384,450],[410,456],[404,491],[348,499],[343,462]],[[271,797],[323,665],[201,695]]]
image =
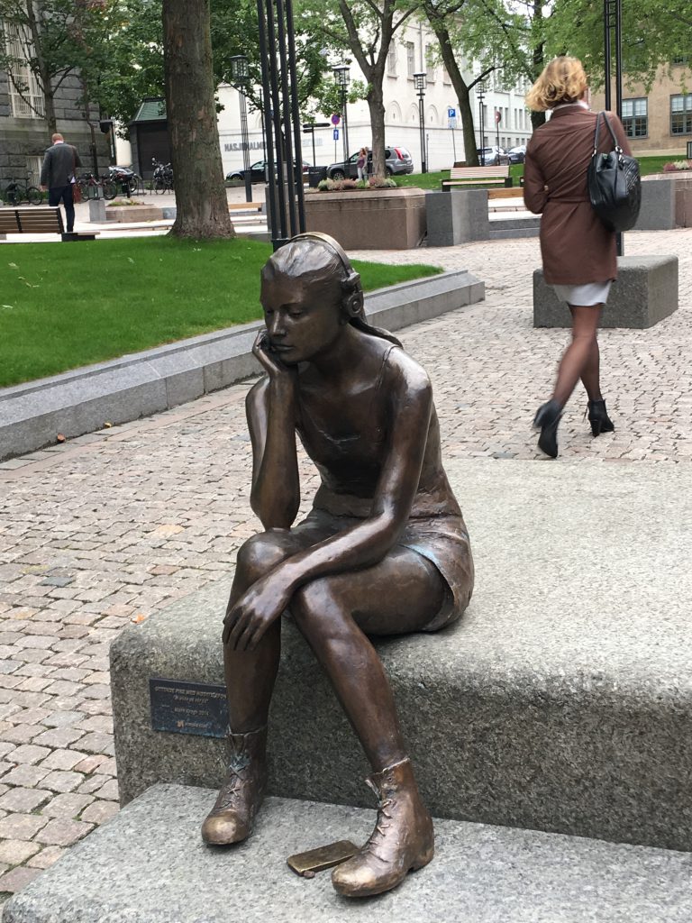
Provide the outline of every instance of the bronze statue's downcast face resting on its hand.
[[343,331],[338,283],[277,273],[262,280],[260,301],[271,349],[286,365],[316,359]]

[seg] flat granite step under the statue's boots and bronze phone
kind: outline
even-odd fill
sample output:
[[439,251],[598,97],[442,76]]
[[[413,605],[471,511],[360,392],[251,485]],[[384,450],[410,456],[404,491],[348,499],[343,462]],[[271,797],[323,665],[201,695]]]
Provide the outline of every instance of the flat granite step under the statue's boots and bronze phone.
[[199,837],[214,793],[157,785],[5,906],[4,923],[688,923],[686,853],[457,821],[436,855],[380,897],[340,897],[286,857],[350,838],[375,811],[269,798],[241,846]]

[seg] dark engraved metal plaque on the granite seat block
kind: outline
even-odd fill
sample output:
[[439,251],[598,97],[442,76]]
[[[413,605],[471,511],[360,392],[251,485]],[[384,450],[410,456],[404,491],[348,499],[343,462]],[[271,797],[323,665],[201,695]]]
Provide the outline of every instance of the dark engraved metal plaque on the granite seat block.
[[151,727],[173,734],[225,737],[228,706],[224,686],[185,679],[149,678]]

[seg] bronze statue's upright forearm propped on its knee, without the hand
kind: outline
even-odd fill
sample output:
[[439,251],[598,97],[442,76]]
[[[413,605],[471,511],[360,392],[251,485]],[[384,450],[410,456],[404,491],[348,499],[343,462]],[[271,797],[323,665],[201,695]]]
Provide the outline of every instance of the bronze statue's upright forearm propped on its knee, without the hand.
[[287,529],[300,506],[292,382],[260,379],[245,412],[253,452],[250,506],[265,529]]

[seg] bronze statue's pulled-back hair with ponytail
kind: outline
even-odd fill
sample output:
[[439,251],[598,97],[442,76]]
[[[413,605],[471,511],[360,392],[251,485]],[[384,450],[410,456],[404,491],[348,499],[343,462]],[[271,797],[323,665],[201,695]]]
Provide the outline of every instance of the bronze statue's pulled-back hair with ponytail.
[[348,314],[349,323],[371,336],[401,345],[388,330],[373,327],[367,322],[360,274],[353,270],[351,260],[339,242],[328,234],[308,231],[297,234],[280,247],[262,267],[261,279],[270,282],[278,274],[304,282],[328,283],[338,279],[342,306]]

